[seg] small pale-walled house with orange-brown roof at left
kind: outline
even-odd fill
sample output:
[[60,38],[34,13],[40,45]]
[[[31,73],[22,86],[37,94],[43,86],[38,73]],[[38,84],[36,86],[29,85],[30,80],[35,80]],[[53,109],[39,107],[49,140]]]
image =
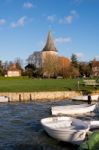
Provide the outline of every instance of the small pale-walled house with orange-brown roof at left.
[[17,68],[16,64],[12,64],[7,70],[7,77],[19,77],[21,76],[21,70]]

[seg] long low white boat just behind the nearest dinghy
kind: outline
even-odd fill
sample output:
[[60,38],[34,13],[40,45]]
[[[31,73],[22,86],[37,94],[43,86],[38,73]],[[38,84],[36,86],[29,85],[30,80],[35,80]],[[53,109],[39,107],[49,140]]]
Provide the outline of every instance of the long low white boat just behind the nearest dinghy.
[[51,107],[52,115],[75,115],[91,112],[95,109],[96,104],[79,104]]

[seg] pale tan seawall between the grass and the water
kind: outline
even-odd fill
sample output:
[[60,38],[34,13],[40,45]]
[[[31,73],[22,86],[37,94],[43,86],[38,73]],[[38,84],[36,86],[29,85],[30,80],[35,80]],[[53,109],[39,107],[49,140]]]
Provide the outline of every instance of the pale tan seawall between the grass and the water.
[[[98,91],[93,91],[92,94],[99,94]],[[1,92],[0,96],[9,97],[10,102],[18,101],[56,101],[62,99],[70,99],[72,97],[82,95],[82,92],[77,91],[55,91],[55,92]]]

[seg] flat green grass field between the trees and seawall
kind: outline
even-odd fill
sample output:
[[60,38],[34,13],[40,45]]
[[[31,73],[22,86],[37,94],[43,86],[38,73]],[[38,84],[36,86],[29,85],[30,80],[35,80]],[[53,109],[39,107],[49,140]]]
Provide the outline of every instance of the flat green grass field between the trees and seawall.
[[[78,81],[80,83],[78,87]],[[0,78],[0,92],[33,92],[33,91],[91,91],[99,89],[99,86],[83,86],[82,79],[31,79]]]

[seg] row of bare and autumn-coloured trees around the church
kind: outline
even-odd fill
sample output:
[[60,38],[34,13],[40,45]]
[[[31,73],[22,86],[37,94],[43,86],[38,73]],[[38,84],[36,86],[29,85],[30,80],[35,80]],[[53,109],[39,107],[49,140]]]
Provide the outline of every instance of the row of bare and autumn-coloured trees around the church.
[[22,76],[31,78],[75,78],[92,76],[92,61],[80,62],[75,54],[71,58],[60,57],[46,54],[42,60],[41,54],[34,52],[26,60],[23,67],[23,61],[17,58],[15,61],[0,61],[0,76],[4,76],[10,66],[15,63],[17,69],[21,70]]

